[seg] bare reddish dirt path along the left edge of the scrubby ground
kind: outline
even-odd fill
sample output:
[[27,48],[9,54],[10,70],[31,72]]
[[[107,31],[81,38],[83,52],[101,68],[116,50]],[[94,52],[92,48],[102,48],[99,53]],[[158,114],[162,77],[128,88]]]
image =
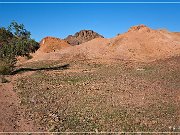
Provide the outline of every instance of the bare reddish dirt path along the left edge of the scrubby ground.
[[13,90],[13,83],[18,78],[32,74],[24,73],[8,77],[9,83],[0,83],[0,132],[27,132],[37,131],[31,120],[24,118],[20,99]]

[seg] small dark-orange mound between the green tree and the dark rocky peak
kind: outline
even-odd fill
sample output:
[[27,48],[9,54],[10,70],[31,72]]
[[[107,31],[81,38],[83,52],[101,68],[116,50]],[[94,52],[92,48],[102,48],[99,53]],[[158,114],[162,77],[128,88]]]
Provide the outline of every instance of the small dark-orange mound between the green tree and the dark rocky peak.
[[55,52],[57,50],[61,50],[69,46],[70,45],[62,39],[55,37],[45,37],[40,42],[39,51],[49,53],[49,52]]

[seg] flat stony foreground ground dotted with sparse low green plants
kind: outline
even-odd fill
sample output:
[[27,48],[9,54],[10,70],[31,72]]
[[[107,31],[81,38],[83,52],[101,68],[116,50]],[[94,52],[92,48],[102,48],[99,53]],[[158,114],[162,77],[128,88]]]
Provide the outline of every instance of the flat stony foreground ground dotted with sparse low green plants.
[[38,71],[24,77],[16,91],[26,117],[51,132],[174,132],[179,131],[171,128],[179,124],[177,91],[164,85],[169,79],[152,80],[166,76],[165,65],[75,62],[67,71]]

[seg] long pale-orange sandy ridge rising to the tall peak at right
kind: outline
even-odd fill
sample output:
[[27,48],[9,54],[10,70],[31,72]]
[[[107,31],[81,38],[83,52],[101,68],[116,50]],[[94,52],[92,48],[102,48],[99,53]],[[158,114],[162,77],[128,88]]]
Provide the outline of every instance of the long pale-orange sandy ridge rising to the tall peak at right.
[[149,62],[180,54],[179,33],[153,30],[145,25],[133,26],[128,32],[111,39],[95,38],[78,46],[68,45],[65,41],[60,43],[64,43],[64,49],[38,55],[35,59],[100,58]]

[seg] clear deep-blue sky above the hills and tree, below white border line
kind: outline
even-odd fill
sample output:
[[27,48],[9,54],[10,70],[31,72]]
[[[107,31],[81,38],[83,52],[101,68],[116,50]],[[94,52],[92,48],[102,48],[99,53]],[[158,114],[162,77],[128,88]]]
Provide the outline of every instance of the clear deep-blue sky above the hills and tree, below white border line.
[[[0,0],[0,2],[3,1],[5,0]],[[159,0],[159,2],[161,1]],[[111,38],[138,24],[145,24],[153,29],[166,28],[170,31],[180,32],[180,4],[0,3],[0,27],[8,26],[13,20],[23,23],[25,28],[31,32],[31,37],[37,41],[46,36],[65,38],[67,35],[83,29],[94,30],[106,38]]]

